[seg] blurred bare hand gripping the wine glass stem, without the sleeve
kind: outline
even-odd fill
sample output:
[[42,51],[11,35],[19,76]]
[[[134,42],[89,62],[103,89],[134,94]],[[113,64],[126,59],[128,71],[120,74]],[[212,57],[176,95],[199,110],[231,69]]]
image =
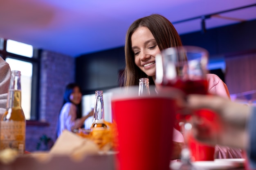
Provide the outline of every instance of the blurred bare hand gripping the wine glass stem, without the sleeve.
[[218,116],[216,117],[218,122],[211,122],[219,125],[218,130],[212,129],[210,124],[204,124],[200,117],[193,116],[192,132],[196,139],[211,145],[246,148],[248,141],[246,125],[251,114],[249,106],[215,95],[188,95],[186,107],[209,108]]

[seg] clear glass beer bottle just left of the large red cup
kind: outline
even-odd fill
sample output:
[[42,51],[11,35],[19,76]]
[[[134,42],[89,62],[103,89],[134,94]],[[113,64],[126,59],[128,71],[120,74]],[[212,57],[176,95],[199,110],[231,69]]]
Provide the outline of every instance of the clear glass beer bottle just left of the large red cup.
[[95,91],[92,128],[107,128],[104,120],[103,91]]

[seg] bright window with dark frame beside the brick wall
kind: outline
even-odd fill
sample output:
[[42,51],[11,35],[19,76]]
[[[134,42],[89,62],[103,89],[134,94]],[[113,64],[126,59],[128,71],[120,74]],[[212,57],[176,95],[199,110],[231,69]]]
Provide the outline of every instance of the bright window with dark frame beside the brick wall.
[[38,120],[38,51],[33,46],[0,38],[0,56],[21,72],[21,106],[27,120]]

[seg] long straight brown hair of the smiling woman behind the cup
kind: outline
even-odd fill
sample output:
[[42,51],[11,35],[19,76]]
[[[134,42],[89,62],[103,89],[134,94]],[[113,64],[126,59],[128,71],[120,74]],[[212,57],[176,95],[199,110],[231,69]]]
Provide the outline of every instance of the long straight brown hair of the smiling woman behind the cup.
[[139,79],[142,77],[148,77],[149,84],[155,84],[152,77],[141,71],[134,62],[131,37],[132,34],[141,26],[145,26],[151,31],[160,51],[173,46],[182,46],[180,36],[173,24],[162,15],[153,14],[133,22],[126,33],[126,67],[122,75],[123,79],[121,79],[123,82],[119,83],[124,86],[138,85]]

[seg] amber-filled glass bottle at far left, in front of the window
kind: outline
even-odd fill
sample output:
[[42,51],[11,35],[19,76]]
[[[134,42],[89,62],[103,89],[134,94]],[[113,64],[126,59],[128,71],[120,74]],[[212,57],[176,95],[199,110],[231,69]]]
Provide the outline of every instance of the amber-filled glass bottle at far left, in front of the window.
[[11,71],[6,112],[0,124],[0,150],[25,151],[26,119],[21,107],[20,71]]

